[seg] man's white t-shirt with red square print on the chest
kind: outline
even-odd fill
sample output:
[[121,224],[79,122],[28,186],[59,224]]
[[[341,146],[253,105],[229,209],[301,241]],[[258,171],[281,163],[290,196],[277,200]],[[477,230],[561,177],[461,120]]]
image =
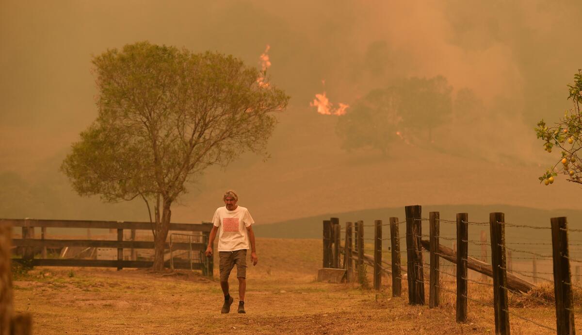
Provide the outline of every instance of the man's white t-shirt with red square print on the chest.
[[212,223],[219,227],[218,251],[235,251],[250,249],[249,232],[246,227],[254,223],[249,210],[237,206],[228,210],[226,206],[218,207],[214,212]]

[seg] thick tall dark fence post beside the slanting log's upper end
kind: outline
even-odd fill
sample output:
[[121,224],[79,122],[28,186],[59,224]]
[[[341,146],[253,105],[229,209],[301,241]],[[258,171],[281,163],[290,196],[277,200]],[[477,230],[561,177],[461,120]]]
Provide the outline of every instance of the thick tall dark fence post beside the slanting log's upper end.
[[424,305],[421,207],[406,206],[406,254],[408,260],[408,296],[410,305]]

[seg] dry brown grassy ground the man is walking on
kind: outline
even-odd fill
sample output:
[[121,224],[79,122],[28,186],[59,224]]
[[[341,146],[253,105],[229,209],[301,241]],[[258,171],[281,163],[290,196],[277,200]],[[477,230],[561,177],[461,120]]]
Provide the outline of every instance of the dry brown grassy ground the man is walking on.
[[[217,281],[197,273],[146,270],[37,268],[15,282],[18,311],[33,313],[36,334],[488,334],[494,333],[492,294],[470,284],[467,323],[455,322],[455,295],[441,306],[410,306],[391,287],[316,282],[321,241],[258,239],[259,265],[249,267],[247,314],[221,315]],[[371,277],[370,277],[371,278]],[[232,279],[232,278],[231,278]],[[384,284],[390,279],[383,277]],[[236,293],[236,279],[230,281]],[[443,287],[455,291],[452,283]],[[540,288],[542,294],[546,288]],[[425,287],[428,299],[428,285]],[[537,292],[537,291],[536,291]],[[533,295],[532,295],[533,296]],[[540,297],[536,295],[535,297]],[[579,295],[576,295],[579,297]],[[512,297],[512,299],[515,299]],[[235,299],[236,302],[236,299]],[[428,302],[428,301],[427,301]],[[555,325],[550,306],[524,304],[511,311]],[[511,318],[513,334],[551,333]]]

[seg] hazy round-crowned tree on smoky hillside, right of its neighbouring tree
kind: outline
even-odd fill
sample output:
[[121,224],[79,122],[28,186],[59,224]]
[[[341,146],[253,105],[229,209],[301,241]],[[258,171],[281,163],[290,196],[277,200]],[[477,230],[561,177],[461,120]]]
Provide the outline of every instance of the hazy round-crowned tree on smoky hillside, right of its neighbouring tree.
[[432,141],[432,130],[452,114],[452,87],[443,76],[412,77],[404,80],[399,90],[403,125],[413,131],[428,131],[428,140]]

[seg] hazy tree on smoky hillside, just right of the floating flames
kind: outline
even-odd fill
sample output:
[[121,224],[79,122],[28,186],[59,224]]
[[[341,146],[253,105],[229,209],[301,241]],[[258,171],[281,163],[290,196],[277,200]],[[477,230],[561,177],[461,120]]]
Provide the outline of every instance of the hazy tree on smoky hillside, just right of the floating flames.
[[338,119],[336,133],[342,139],[342,149],[371,147],[386,154],[389,144],[398,138],[399,110],[398,90],[370,91]]

